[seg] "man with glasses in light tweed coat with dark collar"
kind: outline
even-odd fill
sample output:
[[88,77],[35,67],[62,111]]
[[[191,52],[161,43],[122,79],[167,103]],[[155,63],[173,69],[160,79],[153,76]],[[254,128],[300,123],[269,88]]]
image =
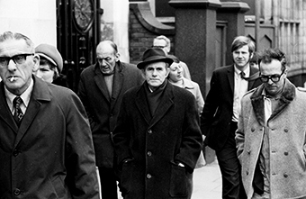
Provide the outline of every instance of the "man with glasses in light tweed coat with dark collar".
[[287,79],[283,51],[258,63],[263,85],[243,96],[236,131],[247,198],[306,198],[306,93]]

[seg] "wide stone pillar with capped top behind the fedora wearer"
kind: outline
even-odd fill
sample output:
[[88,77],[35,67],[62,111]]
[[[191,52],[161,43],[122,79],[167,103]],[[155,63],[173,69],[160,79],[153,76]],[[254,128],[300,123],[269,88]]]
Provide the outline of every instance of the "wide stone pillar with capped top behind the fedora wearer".
[[215,68],[215,40],[219,0],[171,0],[175,7],[175,56],[184,61],[203,97]]

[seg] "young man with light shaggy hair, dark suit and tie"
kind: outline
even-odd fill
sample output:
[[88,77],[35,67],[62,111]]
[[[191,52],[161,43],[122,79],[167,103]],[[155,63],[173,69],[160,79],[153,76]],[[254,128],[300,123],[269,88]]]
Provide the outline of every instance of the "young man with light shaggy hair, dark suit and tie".
[[201,117],[204,143],[216,151],[222,176],[222,198],[246,198],[237,157],[237,130],[240,100],[247,90],[261,84],[258,69],[249,66],[255,44],[248,37],[238,36],[231,44],[234,63],[217,68],[211,77],[211,88],[205,99]]

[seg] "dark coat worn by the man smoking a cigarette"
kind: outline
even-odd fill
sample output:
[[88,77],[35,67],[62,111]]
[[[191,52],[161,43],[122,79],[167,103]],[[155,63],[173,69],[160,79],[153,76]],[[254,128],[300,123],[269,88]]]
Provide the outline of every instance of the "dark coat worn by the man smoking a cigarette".
[[99,198],[81,101],[67,88],[33,79],[20,128],[0,85],[0,198]]

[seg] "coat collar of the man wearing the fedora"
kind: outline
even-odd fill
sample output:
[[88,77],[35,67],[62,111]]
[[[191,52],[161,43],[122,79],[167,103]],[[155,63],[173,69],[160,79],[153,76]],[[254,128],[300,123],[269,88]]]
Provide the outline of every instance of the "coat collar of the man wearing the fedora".
[[[167,81],[167,80],[166,80]],[[162,95],[162,99],[160,101],[160,104],[157,107],[157,110],[151,118],[151,115],[149,113],[149,107],[148,107],[148,100],[147,100],[147,94],[145,91],[145,86],[148,86],[148,83],[145,82],[140,86],[139,91],[137,92],[136,96],[136,105],[139,108],[139,112],[144,117],[145,121],[148,123],[150,128],[154,124],[156,124],[168,111],[168,109],[174,104],[173,98],[173,86],[167,82],[164,94]]]

